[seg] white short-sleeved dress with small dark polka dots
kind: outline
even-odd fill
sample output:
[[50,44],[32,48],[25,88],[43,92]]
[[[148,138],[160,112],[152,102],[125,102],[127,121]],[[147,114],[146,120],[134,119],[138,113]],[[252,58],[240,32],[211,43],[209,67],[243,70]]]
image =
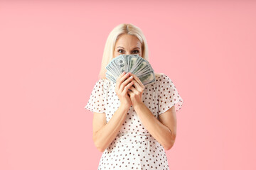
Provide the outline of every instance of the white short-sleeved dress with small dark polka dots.
[[[115,83],[109,79],[98,80],[85,106],[92,113],[105,113],[107,123],[120,105],[114,87]],[[176,112],[181,109],[183,100],[166,74],[156,74],[156,81],[144,87],[142,101],[156,118],[171,106],[175,105]],[[117,137],[102,153],[98,170],[103,169],[169,170],[164,147],[142,125],[132,106]]]

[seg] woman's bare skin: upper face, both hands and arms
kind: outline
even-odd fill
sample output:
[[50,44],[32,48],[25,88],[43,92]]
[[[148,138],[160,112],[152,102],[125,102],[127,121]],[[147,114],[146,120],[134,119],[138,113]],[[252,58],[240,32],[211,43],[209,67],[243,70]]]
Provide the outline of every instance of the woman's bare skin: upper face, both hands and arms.
[[[118,55],[142,56],[142,43],[134,35],[121,35],[114,47],[114,57]],[[129,78],[132,76],[132,78]],[[130,89],[131,91],[129,91]],[[159,120],[142,102],[144,85],[139,78],[132,74],[121,74],[117,78],[115,92],[120,100],[120,106],[106,122],[105,113],[93,113],[92,128],[95,147],[104,152],[117,136],[132,105],[142,124],[149,133],[164,147],[165,150],[173,147],[176,139],[176,111],[175,106],[159,115]]]

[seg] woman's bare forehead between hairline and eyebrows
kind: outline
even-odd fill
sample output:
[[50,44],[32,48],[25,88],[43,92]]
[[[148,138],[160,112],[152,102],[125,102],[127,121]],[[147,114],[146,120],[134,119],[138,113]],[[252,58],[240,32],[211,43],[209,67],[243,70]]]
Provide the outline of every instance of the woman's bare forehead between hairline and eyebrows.
[[142,43],[135,35],[121,35],[115,44],[115,47],[141,47]]

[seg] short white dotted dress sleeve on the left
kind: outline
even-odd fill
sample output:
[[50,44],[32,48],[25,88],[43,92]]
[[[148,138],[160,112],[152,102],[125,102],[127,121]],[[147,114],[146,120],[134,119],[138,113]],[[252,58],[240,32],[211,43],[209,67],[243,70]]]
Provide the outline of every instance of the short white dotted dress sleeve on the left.
[[96,82],[90,94],[89,101],[85,108],[92,112],[105,113],[105,95],[103,91],[104,79],[100,79]]

